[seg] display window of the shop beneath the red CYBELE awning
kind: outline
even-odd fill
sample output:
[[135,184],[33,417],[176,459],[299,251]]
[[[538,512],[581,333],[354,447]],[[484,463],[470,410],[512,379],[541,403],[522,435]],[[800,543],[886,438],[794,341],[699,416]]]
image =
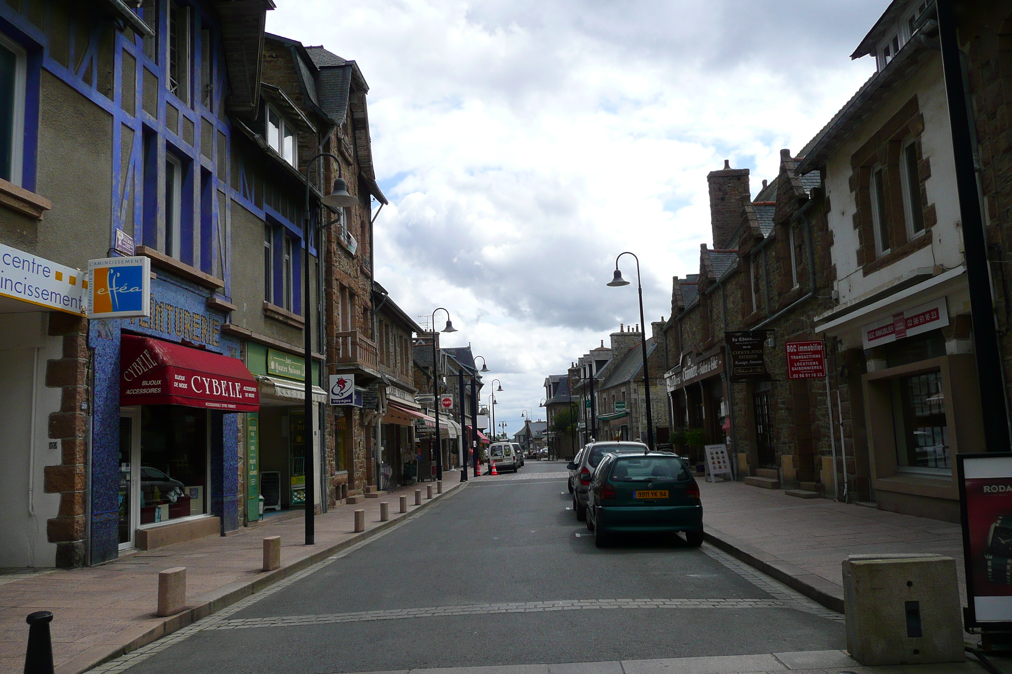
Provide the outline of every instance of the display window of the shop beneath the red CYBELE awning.
[[207,413],[146,405],[141,417],[141,524],[207,512]]

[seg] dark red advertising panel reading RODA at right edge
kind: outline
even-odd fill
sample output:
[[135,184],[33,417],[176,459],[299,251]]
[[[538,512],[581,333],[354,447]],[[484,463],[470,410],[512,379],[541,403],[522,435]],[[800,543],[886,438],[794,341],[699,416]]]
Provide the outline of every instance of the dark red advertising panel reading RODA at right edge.
[[1012,453],[955,456],[966,627],[1012,624]]

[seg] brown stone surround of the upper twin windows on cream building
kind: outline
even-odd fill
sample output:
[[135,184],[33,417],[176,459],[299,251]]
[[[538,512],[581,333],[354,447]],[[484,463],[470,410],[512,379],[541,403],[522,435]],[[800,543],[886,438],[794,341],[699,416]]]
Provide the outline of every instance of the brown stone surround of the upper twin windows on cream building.
[[[930,246],[930,229],[937,221],[934,204],[928,203],[925,183],[931,177],[931,163],[925,158],[921,148],[924,132],[924,116],[915,94],[881,128],[871,134],[867,141],[850,158],[852,173],[850,191],[854,195],[856,209],[853,215],[854,229],[858,231],[857,265],[864,276],[888,267],[909,255]],[[903,167],[901,156],[905,140],[913,138],[917,149],[918,178],[924,229],[909,236],[903,203]],[[886,209],[890,218],[890,240],[895,242],[890,250],[878,255],[875,250],[871,203],[872,168],[880,165],[884,173]],[[911,186],[913,187],[913,186]]]

